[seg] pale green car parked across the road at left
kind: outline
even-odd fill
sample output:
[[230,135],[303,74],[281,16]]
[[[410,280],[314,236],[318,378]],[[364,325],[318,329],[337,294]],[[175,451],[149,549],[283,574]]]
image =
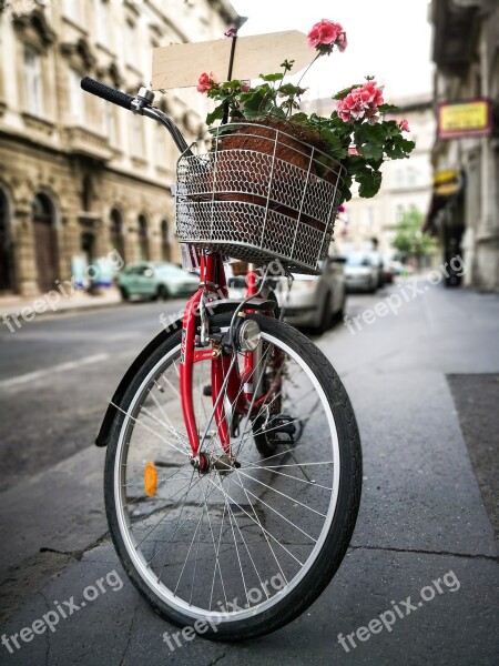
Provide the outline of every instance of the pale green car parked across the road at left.
[[121,297],[175,299],[190,296],[198,285],[193,273],[166,262],[140,262],[129,264],[118,276]]

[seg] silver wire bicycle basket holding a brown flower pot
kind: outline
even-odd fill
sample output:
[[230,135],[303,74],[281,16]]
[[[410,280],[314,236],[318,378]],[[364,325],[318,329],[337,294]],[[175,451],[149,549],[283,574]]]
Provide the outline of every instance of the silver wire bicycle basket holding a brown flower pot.
[[276,127],[231,123],[207,153],[176,168],[181,242],[257,265],[318,273],[333,238],[345,169]]

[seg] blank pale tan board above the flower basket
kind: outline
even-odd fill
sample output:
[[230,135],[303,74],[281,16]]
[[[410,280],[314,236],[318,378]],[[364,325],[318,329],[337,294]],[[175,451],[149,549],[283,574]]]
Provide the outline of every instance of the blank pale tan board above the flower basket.
[[[170,90],[197,85],[203,72],[216,81],[227,80],[232,39],[171,44],[153,50],[152,89]],[[299,72],[317,56],[298,30],[238,37],[235,43],[233,79],[256,79],[262,72],[282,71],[284,60],[294,60],[293,73]]]

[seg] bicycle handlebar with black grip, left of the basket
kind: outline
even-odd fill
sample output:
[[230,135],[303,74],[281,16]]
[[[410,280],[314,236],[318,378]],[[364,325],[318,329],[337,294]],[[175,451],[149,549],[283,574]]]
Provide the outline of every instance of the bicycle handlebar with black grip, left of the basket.
[[146,115],[147,118],[152,118],[153,120],[160,122],[170,132],[176,148],[181,153],[185,153],[187,155],[193,154],[187,142],[182,135],[182,132],[175,125],[173,120],[166,115],[166,113],[163,113],[161,109],[151,107],[151,102],[154,99],[152,91],[141,88],[138,97],[134,98],[122,90],[110,88],[109,85],[105,85],[105,83],[95,81],[95,79],[91,79],[90,77],[84,77],[80,84],[85,92],[90,92],[91,94],[94,94],[108,102],[118,104],[128,111]]

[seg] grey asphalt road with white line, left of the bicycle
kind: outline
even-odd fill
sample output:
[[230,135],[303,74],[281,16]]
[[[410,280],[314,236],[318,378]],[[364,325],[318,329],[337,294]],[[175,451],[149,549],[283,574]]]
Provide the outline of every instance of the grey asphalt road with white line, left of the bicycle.
[[55,314],[0,325],[2,447],[8,490],[90,446],[126,367],[184,301]]

